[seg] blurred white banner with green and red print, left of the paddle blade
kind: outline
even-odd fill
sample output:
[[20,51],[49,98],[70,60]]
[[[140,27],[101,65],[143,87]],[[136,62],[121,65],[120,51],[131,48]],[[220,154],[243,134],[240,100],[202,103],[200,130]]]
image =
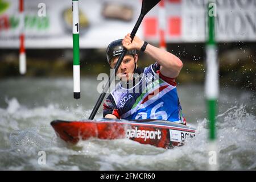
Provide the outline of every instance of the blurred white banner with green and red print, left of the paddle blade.
[[[0,14],[0,47],[19,46],[18,1],[2,1],[7,7]],[[39,3],[46,5],[46,16],[39,16]],[[79,1],[80,48],[103,48],[130,32],[141,11],[141,2]],[[24,1],[26,48],[72,48],[72,1]],[[139,30],[137,35],[141,35]]]

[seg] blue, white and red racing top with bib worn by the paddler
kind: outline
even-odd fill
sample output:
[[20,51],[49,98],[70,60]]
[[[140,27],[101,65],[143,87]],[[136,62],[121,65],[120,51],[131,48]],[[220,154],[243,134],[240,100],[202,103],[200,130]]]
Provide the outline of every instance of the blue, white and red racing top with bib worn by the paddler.
[[176,82],[174,78],[163,76],[159,69],[156,62],[137,69],[135,73],[142,74],[133,85],[119,82],[104,101],[103,116],[113,114],[127,120],[163,119],[185,124]]

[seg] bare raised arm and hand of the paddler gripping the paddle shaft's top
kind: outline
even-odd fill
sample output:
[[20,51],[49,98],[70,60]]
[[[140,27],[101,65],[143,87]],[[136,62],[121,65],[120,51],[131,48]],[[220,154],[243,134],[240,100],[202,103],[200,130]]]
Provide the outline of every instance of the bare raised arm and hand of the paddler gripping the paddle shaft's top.
[[[131,43],[130,34],[127,34],[123,39],[123,47],[126,49],[138,49],[140,50],[143,46],[144,41],[139,39],[137,36],[134,37]],[[158,61],[160,64],[160,72],[163,76],[175,78],[179,75],[181,68],[183,67],[182,61],[179,57],[173,55],[170,52],[164,51],[158,47],[154,47],[147,44],[145,51],[153,59]]]

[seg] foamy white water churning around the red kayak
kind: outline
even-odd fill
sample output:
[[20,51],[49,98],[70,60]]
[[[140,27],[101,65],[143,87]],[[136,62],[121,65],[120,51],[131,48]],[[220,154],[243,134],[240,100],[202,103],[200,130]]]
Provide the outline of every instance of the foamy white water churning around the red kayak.
[[[56,118],[88,118],[90,110],[57,104],[29,109],[16,98],[7,104],[6,108],[0,108],[0,135],[1,148],[9,149],[0,150],[0,169],[204,170],[208,166],[207,119],[197,121],[194,139],[171,150],[128,139],[89,139],[71,147],[59,142],[49,122]],[[255,131],[255,115],[248,113],[245,105],[230,106],[218,114],[217,152],[221,170],[256,169]],[[46,151],[46,166],[37,162],[40,150]]]

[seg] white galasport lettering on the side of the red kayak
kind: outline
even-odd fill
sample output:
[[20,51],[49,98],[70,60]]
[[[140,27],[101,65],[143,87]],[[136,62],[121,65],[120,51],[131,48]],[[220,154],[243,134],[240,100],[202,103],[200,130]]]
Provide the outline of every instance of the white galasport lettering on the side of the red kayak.
[[138,127],[135,127],[135,129],[126,131],[126,138],[143,138],[144,141],[147,139],[161,139],[161,131],[138,130]]

